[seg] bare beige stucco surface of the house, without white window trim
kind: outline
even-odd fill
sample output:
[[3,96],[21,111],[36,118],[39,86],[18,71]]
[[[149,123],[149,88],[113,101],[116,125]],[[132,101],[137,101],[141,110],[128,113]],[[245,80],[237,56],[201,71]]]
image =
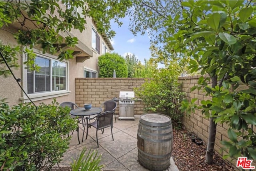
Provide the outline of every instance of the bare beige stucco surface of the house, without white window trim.
[[[63,6],[63,4],[62,4],[62,6]],[[94,24],[92,23],[91,18],[86,18],[86,22],[87,22],[86,30],[84,30],[81,33],[79,30],[72,29],[71,34],[78,38],[78,40],[80,41],[80,44],[83,44],[83,46],[86,46],[88,48],[86,50],[90,50],[92,52],[92,57],[89,58],[88,60],[85,60],[82,63],[77,63],[76,58],[68,60],[68,85],[69,85],[68,91],[70,91],[70,93],[68,95],[61,95],[59,97],[55,97],[59,103],[61,103],[63,101],[75,101],[75,78],[83,78],[84,77],[84,67],[86,67],[87,69],[98,71],[98,56],[100,56],[100,54],[102,54],[102,41],[103,42],[105,42],[105,41],[103,40],[102,36],[100,35],[100,54],[98,54],[96,51],[94,51],[92,49],[92,25],[94,25]],[[94,28],[96,28],[95,25],[94,25]],[[6,29],[8,31],[2,30],[2,29],[0,30],[0,35],[1,35],[0,41],[3,44],[10,44],[12,46],[18,45],[16,40],[14,40],[13,35],[10,33],[10,32],[15,33],[17,30],[15,30],[14,27],[7,28],[6,26],[4,29]],[[83,47],[83,46],[80,46],[80,47]],[[50,54],[48,55],[47,53],[44,55],[46,57],[57,59],[57,55],[50,56]],[[24,77],[22,76],[23,75],[23,65],[22,65],[23,61],[22,61],[22,57],[19,54],[18,54],[17,58],[19,59],[18,64],[20,65],[20,67],[17,70],[14,70],[12,68],[12,70],[13,70],[16,78],[22,79],[21,84],[24,86],[27,84],[27,82],[26,82],[26,79],[24,79]],[[2,66],[0,66],[0,67],[2,67]],[[26,91],[26,89],[25,89],[25,91]],[[12,76],[9,76],[8,78],[4,78],[4,76],[0,76],[0,99],[6,98],[6,101],[10,105],[16,105],[18,103],[24,102],[23,100],[20,99],[22,97],[24,97],[22,90],[20,89],[20,87],[18,86],[18,84],[16,83],[14,78],[12,78]],[[42,100],[36,100],[36,101],[35,101],[35,99],[32,99],[32,100],[34,101],[34,103],[36,105],[38,105],[41,102],[44,102],[47,104],[51,103],[52,99],[53,99],[52,97],[49,97],[49,98],[42,99]]]

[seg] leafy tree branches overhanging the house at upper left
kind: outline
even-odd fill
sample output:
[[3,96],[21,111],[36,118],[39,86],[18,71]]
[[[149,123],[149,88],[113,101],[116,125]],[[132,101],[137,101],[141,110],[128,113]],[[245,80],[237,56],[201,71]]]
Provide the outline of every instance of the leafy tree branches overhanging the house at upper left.
[[[109,38],[114,36],[110,29],[110,20],[114,19],[118,25],[130,8],[130,1],[0,1],[0,28],[13,34],[20,46],[11,47],[0,42],[0,52],[10,67],[18,67],[17,54],[26,56],[25,64],[31,70],[38,70],[34,65],[35,54],[32,48],[41,47],[42,52],[58,53],[60,60],[72,58],[72,50],[62,50],[60,44],[75,46],[78,39],[70,36],[68,31],[77,29],[80,32],[86,29],[86,17],[94,19],[97,31],[106,32]],[[63,7],[65,6],[65,7]],[[82,14],[74,15],[74,9],[79,8]],[[18,32],[11,32],[7,27],[15,26]],[[67,32],[62,38],[60,32]],[[22,48],[22,46],[27,46]],[[0,64],[4,61],[1,59]],[[7,76],[5,68],[0,68],[0,75]]]

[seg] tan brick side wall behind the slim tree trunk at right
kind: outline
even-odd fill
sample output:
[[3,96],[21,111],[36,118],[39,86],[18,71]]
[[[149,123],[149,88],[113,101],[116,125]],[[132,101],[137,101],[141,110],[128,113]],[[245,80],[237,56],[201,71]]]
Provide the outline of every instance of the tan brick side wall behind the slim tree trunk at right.
[[[186,98],[190,101],[192,98],[197,98],[196,104],[200,105],[202,100],[211,100],[211,97],[206,97],[205,92],[202,92],[202,90],[194,90],[190,91],[190,88],[192,88],[194,85],[198,85],[198,78],[200,76],[190,76],[190,77],[180,77],[178,82],[180,83],[181,90],[186,93]],[[202,115],[201,110],[195,110],[194,113],[191,113],[189,116],[185,116],[183,118],[183,124],[186,127],[187,130],[192,131],[195,133],[198,137],[200,137],[205,143],[208,142],[208,131],[209,131],[209,120],[205,117],[205,115]],[[225,123],[218,123],[216,128],[216,139],[215,139],[215,145],[214,150],[220,154],[221,156],[224,156],[228,154],[228,151],[223,150],[222,151],[222,144],[221,141],[229,141],[228,138],[228,125]],[[232,165],[236,166],[236,160],[231,161],[230,158],[227,159]]]

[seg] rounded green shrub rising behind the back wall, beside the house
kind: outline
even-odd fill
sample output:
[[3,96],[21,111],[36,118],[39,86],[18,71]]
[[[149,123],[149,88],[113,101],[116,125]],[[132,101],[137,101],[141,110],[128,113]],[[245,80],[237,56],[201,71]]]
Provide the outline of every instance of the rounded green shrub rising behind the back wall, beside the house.
[[127,78],[128,68],[122,56],[113,53],[106,53],[98,58],[99,77],[112,78],[116,70],[116,78]]

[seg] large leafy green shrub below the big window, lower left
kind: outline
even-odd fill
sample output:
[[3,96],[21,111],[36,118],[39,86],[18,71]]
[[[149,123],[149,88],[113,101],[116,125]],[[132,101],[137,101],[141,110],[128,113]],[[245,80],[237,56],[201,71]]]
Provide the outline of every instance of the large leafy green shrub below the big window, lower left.
[[0,170],[38,171],[60,162],[68,133],[77,127],[69,110],[56,100],[38,109],[31,103],[12,108],[0,103]]

